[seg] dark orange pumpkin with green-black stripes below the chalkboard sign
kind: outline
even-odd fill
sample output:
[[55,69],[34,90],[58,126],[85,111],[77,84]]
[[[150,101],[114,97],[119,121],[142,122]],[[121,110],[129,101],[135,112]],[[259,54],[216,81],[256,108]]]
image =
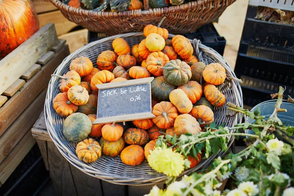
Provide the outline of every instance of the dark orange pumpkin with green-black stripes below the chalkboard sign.
[[149,141],[149,136],[144,129],[128,128],[123,133],[123,140],[126,144],[145,145]]

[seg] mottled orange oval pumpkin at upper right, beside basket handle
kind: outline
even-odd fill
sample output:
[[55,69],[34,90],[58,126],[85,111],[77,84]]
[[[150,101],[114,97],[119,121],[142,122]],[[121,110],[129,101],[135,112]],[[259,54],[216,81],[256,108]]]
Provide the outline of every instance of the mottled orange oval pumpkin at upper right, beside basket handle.
[[193,54],[191,42],[182,35],[175,35],[172,38],[172,47],[174,51],[183,59],[187,59]]

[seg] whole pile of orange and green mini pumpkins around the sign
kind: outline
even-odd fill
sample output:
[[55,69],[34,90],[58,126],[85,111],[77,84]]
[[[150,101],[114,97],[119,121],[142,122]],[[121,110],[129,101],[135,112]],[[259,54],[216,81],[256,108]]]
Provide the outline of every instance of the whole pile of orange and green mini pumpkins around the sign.
[[[98,55],[98,68],[93,68],[89,58],[81,56],[71,62],[68,73],[53,75],[61,77],[62,92],[54,98],[53,107],[57,114],[67,117],[64,136],[79,142],[76,153],[86,163],[96,161],[102,153],[111,157],[121,154],[123,163],[140,165],[155,147],[158,136],[197,134],[214,121],[214,107],[225,103],[217,88],[226,78],[219,63],[198,62],[190,41],[182,35],[169,40],[167,29],[147,25],[144,35],[146,39],[132,47],[123,38],[113,40],[114,51]],[[125,130],[116,122],[92,125],[97,113],[96,84],[150,76],[155,77],[151,82],[155,118],[133,121],[133,127]],[[98,143],[87,139],[88,136],[101,139]],[[189,157],[191,167],[200,158]]]

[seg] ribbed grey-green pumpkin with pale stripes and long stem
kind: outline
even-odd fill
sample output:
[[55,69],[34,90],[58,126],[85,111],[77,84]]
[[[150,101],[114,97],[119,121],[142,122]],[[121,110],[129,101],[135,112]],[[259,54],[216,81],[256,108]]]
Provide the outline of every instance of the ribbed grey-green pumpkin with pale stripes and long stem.
[[191,67],[179,59],[171,60],[163,67],[163,76],[171,84],[181,86],[192,77]]

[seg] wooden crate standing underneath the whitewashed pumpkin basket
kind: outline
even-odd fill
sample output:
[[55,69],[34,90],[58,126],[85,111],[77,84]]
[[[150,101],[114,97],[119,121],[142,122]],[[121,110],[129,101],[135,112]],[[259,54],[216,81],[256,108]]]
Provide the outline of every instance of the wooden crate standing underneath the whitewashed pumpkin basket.
[[[57,195],[71,196],[143,196],[152,186],[123,186],[112,184],[81,172],[70,164],[52,142],[45,124],[44,113],[31,129],[41,150]],[[157,185],[161,189],[164,184]]]

